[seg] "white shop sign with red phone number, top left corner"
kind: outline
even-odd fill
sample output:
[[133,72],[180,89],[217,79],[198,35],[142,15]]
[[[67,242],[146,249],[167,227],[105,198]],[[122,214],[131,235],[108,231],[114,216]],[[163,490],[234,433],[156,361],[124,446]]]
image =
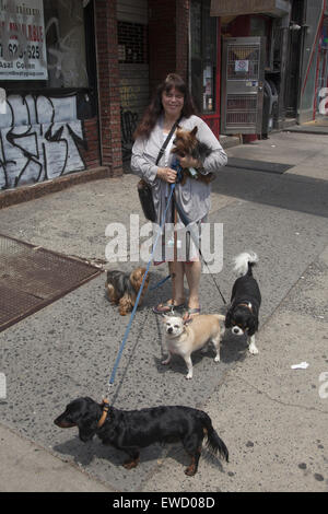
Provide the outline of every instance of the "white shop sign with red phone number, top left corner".
[[0,80],[47,80],[43,0],[0,0]]

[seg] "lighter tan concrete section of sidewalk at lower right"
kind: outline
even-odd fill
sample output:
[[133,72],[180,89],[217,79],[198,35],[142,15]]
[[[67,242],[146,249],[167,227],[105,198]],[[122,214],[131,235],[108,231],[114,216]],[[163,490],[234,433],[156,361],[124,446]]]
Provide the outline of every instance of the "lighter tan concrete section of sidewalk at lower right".
[[[188,459],[177,448],[144,490],[328,491],[327,291],[328,246],[261,328],[259,354],[237,363],[203,406],[230,463],[220,471],[200,459],[189,480],[181,472]],[[301,362],[308,367],[291,369]]]

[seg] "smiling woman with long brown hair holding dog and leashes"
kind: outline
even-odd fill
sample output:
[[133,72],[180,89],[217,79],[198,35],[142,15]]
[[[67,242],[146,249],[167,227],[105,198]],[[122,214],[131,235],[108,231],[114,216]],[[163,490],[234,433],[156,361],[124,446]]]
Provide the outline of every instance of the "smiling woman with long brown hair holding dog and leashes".
[[[211,153],[203,162],[191,156],[177,157],[183,168],[194,167],[200,170],[202,174],[216,172],[220,166],[226,164],[226,154],[214,137],[207,124],[195,115],[195,106],[190,93],[184,80],[175,73],[166,77],[165,81],[159,85],[156,94],[145,110],[145,114],[136,130],[136,142],[132,148],[131,171],[142,177],[152,186],[154,206],[157,215],[157,224],[161,224],[171,191],[171,184],[177,179],[177,172],[172,167],[173,160],[176,159],[171,152],[174,136],[171,138],[167,148],[156,164],[159,152],[167,138],[174,124],[184,130],[191,130],[197,126],[197,139],[206,143],[211,149]],[[175,201],[178,212],[186,223],[191,222],[199,226],[204,222],[210,210],[210,185],[195,178],[187,178],[186,182],[176,184]],[[173,223],[173,211],[168,209],[166,223]],[[178,217],[180,226],[185,226]],[[163,242],[165,237],[163,236]],[[166,237],[167,243],[167,237]],[[190,246],[190,243],[188,243]],[[161,245],[160,245],[161,246]],[[167,249],[167,248],[166,248]],[[160,248],[161,254],[163,248]],[[201,262],[198,252],[194,252],[190,257],[190,248],[187,248],[188,259],[168,262],[169,273],[175,274],[175,297],[156,305],[153,311],[156,314],[166,314],[174,309],[184,308],[186,305],[184,278],[186,274],[188,295],[188,317],[200,313],[199,283],[201,274]],[[165,253],[165,252],[164,252]],[[159,250],[157,250],[159,254]],[[163,255],[163,254],[162,254]],[[159,259],[165,259],[165,255]],[[156,264],[156,262],[155,262]]]

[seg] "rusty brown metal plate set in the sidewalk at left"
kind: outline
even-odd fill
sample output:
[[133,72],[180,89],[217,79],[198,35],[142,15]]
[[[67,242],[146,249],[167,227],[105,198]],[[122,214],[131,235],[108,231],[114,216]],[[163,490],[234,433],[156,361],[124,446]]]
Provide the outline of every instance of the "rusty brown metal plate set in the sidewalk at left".
[[101,272],[72,257],[0,234],[0,331]]

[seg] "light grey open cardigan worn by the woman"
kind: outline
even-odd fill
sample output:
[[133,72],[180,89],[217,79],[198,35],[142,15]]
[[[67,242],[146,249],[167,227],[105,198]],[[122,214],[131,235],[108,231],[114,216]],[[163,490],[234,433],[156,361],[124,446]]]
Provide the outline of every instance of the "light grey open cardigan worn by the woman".
[[[197,139],[212,149],[211,154],[204,160],[204,173],[218,173],[221,166],[226,164],[226,153],[220,142],[209,128],[209,126],[198,116],[183,118],[179,126],[191,130],[197,125]],[[174,154],[162,156],[159,166],[155,165],[159,152],[165,141],[166,135],[163,132],[163,118],[160,118],[148,139],[138,138],[132,148],[131,171],[144,178],[153,191],[154,206],[157,213],[157,223],[160,224],[165,211],[167,197],[169,195],[169,185],[160,178],[156,178],[159,167],[165,167],[172,162]],[[174,139],[174,136],[173,138]],[[204,184],[194,178],[187,178],[185,185],[177,184],[175,188],[176,201],[179,208],[191,222],[198,222],[207,217],[210,211],[211,185]],[[172,222],[171,209],[168,209],[167,222]]]

